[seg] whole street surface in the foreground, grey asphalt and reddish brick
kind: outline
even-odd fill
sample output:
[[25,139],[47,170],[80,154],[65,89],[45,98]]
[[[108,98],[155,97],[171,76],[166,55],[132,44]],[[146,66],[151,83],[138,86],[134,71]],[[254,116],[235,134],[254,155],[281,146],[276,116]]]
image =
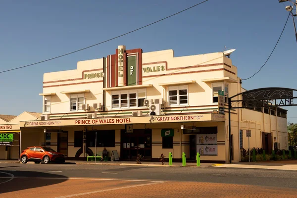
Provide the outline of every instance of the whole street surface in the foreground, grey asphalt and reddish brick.
[[[81,181],[78,181],[81,180]],[[103,182],[104,180],[104,182]],[[80,187],[84,185],[84,189]],[[50,188],[49,188],[50,186]],[[99,189],[107,189],[99,190]],[[107,165],[77,165],[77,164],[0,164],[0,198],[22,196],[34,197],[35,194],[46,192],[48,197],[68,196],[96,197],[96,192],[107,193],[110,189],[118,189],[120,197],[131,197],[134,190],[143,188],[151,190],[149,195],[164,189],[175,189],[177,197],[206,196],[223,197],[221,192],[211,189],[222,189],[226,197],[238,197],[252,193],[249,197],[282,197],[297,196],[297,171],[239,169],[219,167],[145,167],[145,166],[107,166]],[[174,188],[173,188],[174,187]],[[31,189],[31,191],[30,191]],[[35,189],[32,194],[32,189]],[[49,193],[63,192],[57,195]],[[59,190],[62,189],[62,190]],[[67,189],[67,191],[65,191]],[[109,190],[108,190],[109,189]],[[195,189],[195,192],[193,193]],[[39,192],[39,193],[37,193]],[[83,194],[86,192],[95,192]],[[180,192],[180,194],[178,194]],[[260,196],[260,194],[262,194]],[[213,193],[213,194],[211,194]],[[215,194],[218,193],[218,194]],[[292,194],[287,194],[292,193]],[[71,194],[72,195],[72,194]],[[111,196],[110,192],[104,197]],[[163,193],[160,193],[163,195]],[[173,195],[173,197],[174,197]],[[264,196],[263,196],[264,195]],[[47,197],[44,196],[44,197]],[[114,194],[113,196],[119,196]],[[135,195],[134,195],[135,196]],[[148,197],[158,197],[159,194]],[[73,196],[70,196],[73,197]],[[133,196],[132,196],[133,197]],[[135,196],[138,197],[138,196]],[[143,196],[140,196],[143,197]],[[162,196],[161,196],[162,197]],[[171,196],[172,197],[172,196]],[[64,198],[64,197],[63,197]]]

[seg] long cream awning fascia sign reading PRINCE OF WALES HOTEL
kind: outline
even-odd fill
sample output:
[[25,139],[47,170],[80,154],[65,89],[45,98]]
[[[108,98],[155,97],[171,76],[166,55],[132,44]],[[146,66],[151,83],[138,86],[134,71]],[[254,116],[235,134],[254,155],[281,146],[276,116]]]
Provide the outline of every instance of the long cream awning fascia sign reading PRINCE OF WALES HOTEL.
[[217,114],[189,114],[170,116],[142,116],[99,119],[74,119],[74,120],[48,120],[48,121],[21,121],[20,127],[39,126],[84,126],[84,125],[109,125],[109,124],[142,124],[164,122],[195,122],[195,121],[225,121],[225,115]]

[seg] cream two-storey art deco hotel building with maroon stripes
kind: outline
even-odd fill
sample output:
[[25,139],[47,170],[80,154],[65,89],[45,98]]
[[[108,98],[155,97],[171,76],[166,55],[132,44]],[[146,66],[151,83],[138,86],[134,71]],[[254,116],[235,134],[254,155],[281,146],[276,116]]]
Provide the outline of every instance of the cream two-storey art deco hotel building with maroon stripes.
[[44,74],[43,112],[20,120],[20,150],[46,146],[83,160],[104,147],[120,160],[169,152],[174,161],[183,152],[195,160],[199,152],[202,162],[237,162],[246,130],[250,148],[288,149],[287,111],[278,107],[231,109],[229,139],[228,97],[244,91],[223,52],[175,57],[171,49],[118,46],[77,69]]

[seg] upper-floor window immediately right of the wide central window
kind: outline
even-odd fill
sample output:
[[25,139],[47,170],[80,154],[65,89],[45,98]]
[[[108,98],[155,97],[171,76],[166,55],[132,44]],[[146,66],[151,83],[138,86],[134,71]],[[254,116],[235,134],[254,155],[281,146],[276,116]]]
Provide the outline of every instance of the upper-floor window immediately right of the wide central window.
[[188,104],[188,86],[169,87],[169,104]]

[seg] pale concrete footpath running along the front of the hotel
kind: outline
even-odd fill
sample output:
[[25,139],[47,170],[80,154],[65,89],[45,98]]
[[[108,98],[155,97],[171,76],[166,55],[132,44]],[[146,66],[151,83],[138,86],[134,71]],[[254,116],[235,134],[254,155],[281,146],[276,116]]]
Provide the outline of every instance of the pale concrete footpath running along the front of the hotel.
[[[18,160],[0,160],[1,163],[21,163]],[[34,162],[28,162],[34,163]],[[112,166],[155,166],[169,167],[168,162],[162,165],[161,162],[144,161],[142,164],[137,164],[136,161],[72,161],[67,160],[65,164],[93,164],[93,165],[112,165]],[[173,163],[170,167],[183,167],[181,162]],[[187,163],[186,167],[193,168],[251,168],[251,169],[272,169],[272,170],[292,170],[297,171],[297,160],[282,160],[282,161],[267,161],[267,162],[235,162],[232,164],[215,164],[215,163],[200,163],[198,167],[196,163]]]

